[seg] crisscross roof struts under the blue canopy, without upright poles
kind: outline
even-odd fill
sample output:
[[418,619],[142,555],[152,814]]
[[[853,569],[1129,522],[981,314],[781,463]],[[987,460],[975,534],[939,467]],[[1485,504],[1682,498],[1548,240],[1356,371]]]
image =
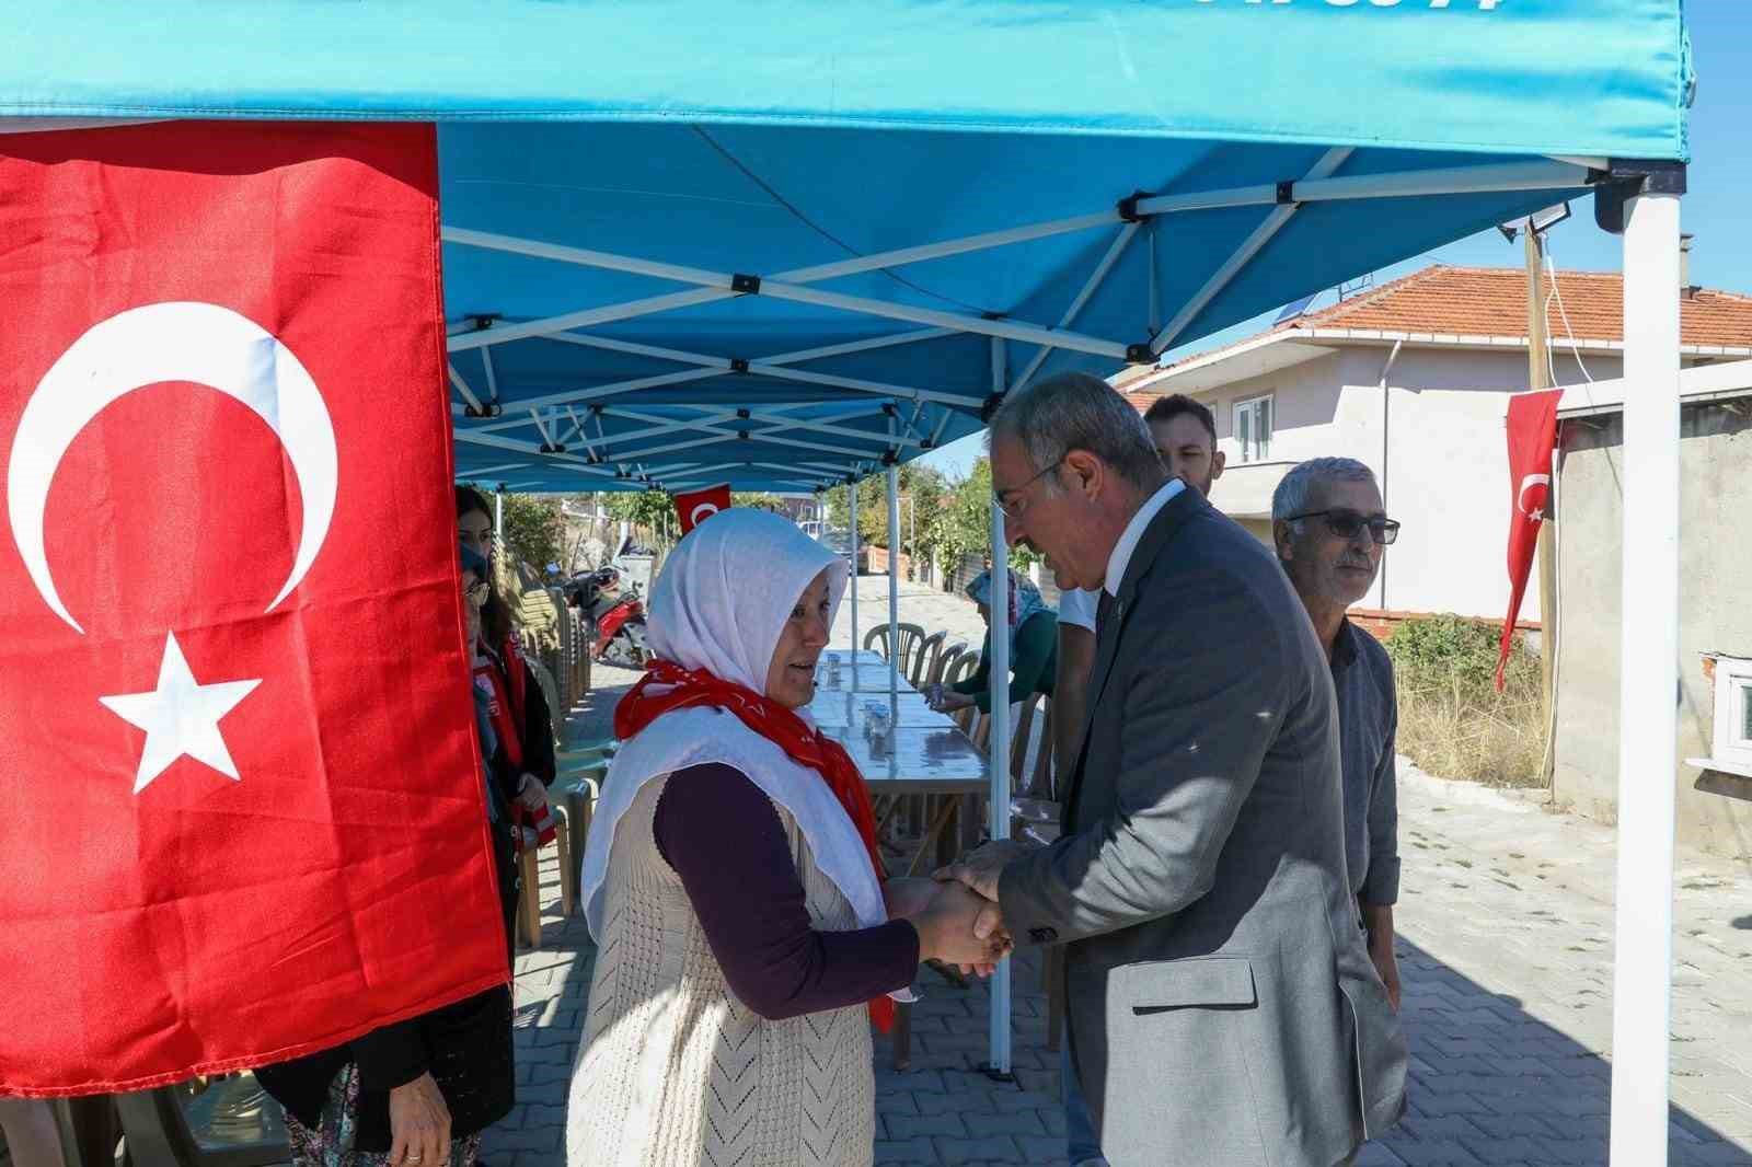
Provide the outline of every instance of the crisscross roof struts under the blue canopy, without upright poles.
[[[822,421],[787,421],[783,422],[792,429],[811,429],[820,433],[836,433],[837,436],[851,438],[855,442],[872,443],[876,449],[867,456],[860,456],[860,450],[848,447],[829,447],[825,443],[808,445],[799,438],[780,438],[776,436],[780,429],[776,428],[757,428],[755,424],[731,426],[725,422],[732,421],[722,417],[724,408],[701,408],[699,419],[673,422],[678,431],[692,429],[701,436],[696,445],[669,445],[659,449],[639,450],[638,454],[629,454],[625,457],[615,459],[618,463],[617,477],[634,477],[625,471],[625,466],[639,459],[639,454],[657,456],[671,454],[683,449],[696,450],[701,456],[710,457],[713,447],[722,447],[731,442],[746,440],[753,442],[773,442],[776,445],[788,445],[797,449],[816,449],[825,454],[836,454],[841,457],[851,457],[850,475],[858,477],[871,473],[887,457],[899,457],[906,449],[930,449],[937,443],[943,431],[948,428],[950,412],[964,410],[971,412],[979,408],[981,403],[971,401],[967,396],[946,393],[934,389],[930,385],[897,385],[887,382],[874,382],[867,378],[843,377],[834,373],[823,373],[815,370],[795,368],[809,361],[830,359],[836,356],[848,356],[855,352],[867,352],[874,349],[885,349],[904,343],[920,343],[929,340],[941,340],[957,335],[983,335],[1000,340],[1014,340],[1021,343],[1037,345],[1034,356],[1018,375],[1007,384],[995,384],[993,396],[1002,396],[1006,391],[1020,389],[1028,384],[1039,373],[1041,366],[1056,349],[1069,349],[1077,352],[1086,352],[1093,356],[1111,357],[1114,361],[1155,361],[1167,347],[1184,333],[1186,326],[1202,312],[1209,303],[1240,273],[1282,230],[1282,226],[1295,216],[1295,210],[1302,203],[1309,202],[1337,202],[1337,200],[1367,200],[1367,198],[1407,198],[1419,194],[1459,194],[1459,193],[1501,193],[1501,191],[1544,191],[1544,189],[1573,189],[1586,186],[1591,177],[1605,165],[1605,159],[1531,159],[1515,163],[1489,163],[1479,166],[1456,166],[1447,170],[1426,170],[1426,172],[1405,172],[1405,173],[1379,173],[1379,175],[1353,175],[1353,177],[1333,177],[1333,172],[1342,166],[1349,156],[1349,147],[1337,147],[1328,151],[1319,163],[1316,163],[1305,175],[1296,180],[1279,182],[1279,184],[1256,184],[1246,187],[1228,187],[1219,191],[1193,191],[1179,194],[1139,194],[1121,200],[1116,207],[1070,216],[1063,219],[1051,219],[1044,223],[1032,223],[1016,228],[1006,228],[999,231],[985,231],[978,235],[967,235],[962,238],[939,240],[934,244],[922,244],[915,247],[902,247],[895,251],[887,251],[871,256],[858,256],[851,259],[841,259],[836,263],[813,265],[806,268],[790,268],[776,272],[773,275],[750,275],[750,273],[732,273],[718,272],[708,268],[685,266],[676,263],[664,263],[655,259],[645,259],[638,256],[625,256],[608,251],[585,249],[585,247],[568,247],[562,244],[548,244],[541,240],[517,238],[510,235],[478,231],[461,226],[445,226],[443,240],[452,245],[478,247],[485,251],[499,251],[526,258],[547,259],[554,263],[566,263],[573,266],[601,268],[611,272],[625,272],[632,275],[643,275],[652,279],[664,279],[676,284],[690,286],[683,291],[664,293],[657,296],[645,296],[639,300],[599,305],[589,308],[578,308],[576,312],[566,312],[561,315],[552,315],[540,321],[524,321],[515,324],[498,324],[487,317],[477,319],[477,326],[452,333],[447,338],[449,350],[470,352],[480,350],[487,393],[480,394],[470,385],[461,371],[450,366],[450,384],[456,389],[461,403],[454,407],[457,414],[457,431],[461,435],[487,435],[501,431],[515,431],[524,428],[533,428],[538,435],[538,442],[527,443],[526,447],[503,447],[517,449],[519,452],[531,452],[543,457],[559,457],[568,464],[575,464],[576,459],[568,459],[564,452],[552,452],[552,447],[566,447],[571,440],[583,436],[583,424],[568,407],[578,405],[597,405],[611,398],[620,398],[632,393],[664,389],[685,385],[699,380],[725,377],[725,375],[748,375],[760,377],[766,380],[790,382],[799,385],[811,385],[820,389],[843,389],[855,394],[867,394],[871,398],[881,400],[883,408],[894,410],[902,401],[911,401],[915,405],[913,422],[908,426],[913,429],[915,424],[923,422],[930,429],[930,438],[925,436],[902,436],[890,438],[883,442],[880,436],[869,431],[843,429],[830,422]],[[1076,322],[1081,310],[1088,301],[1106,286],[1107,277],[1118,265],[1128,245],[1137,238],[1137,235],[1153,219],[1169,214],[1186,214],[1197,210],[1216,210],[1230,207],[1274,207],[1267,221],[1249,235],[1247,240],[1235,251],[1235,254],[1207,280],[1207,284],[1197,293],[1193,300],[1181,307],[1176,317],[1167,328],[1156,328],[1158,315],[1158,298],[1160,293],[1155,286],[1155,265],[1149,266],[1149,324],[1156,328],[1155,336],[1148,342],[1127,343],[1106,336],[1091,336],[1086,333],[1074,331],[1070,326]],[[843,293],[825,291],[815,287],[815,284],[841,279],[846,275],[857,275],[864,272],[876,270],[894,270],[915,263],[927,263],[930,259],[943,259],[948,256],[967,256],[993,251],[999,247],[1011,247],[1016,244],[1027,244],[1032,240],[1069,235],[1077,231],[1095,231],[1095,230],[1113,230],[1114,237],[1097,261],[1095,268],[1090,272],[1077,296],[1070,305],[1060,314],[1058,321],[1051,326],[1035,324],[1020,319],[990,319],[983,315],[965,314],[965,312],[944,312],[939,308],[923,308],[918,305],[899,303],[890,300],[878,300],[871,296],[848,296]],[[1151,238],[1153,235],[1146,233]],[[846,312],[853,317],[865,317],[876,321],[906,321],[920,324],[922,328],[913,331],[904,331],[897,335],[887,335],[869,340],[855,340],[836,345],[820,345],[813,349],[801,349],[795,352],[783,352],[767,357],[731,357],[706,352],[692,352],[685,349],[636,343],[629,340],[618,340],[611,336],[590,335],[578,329],[597,328],[610,322],[631,321],[657,315],[662,312],[673,312],[678,308],[696,307],[703,303],[713,303],[718,300],[734,300],[741,296],[773,296],[776,300],[790,300],[797,303],[809,303],[825,308],[836,308]],[[484,424],[471,424],[470,417],[487,415],[491,417],[499,405],[498,394],[498,377],[492,364],[492,349],[496,345],[512,343],[515,340],[543,338],[559,343],[585,345],[613,352],[624,352],[629,356],[641,356],[657,361],[675,361],[687,368],[680,368],[666,373],[653,373],[648,377],[636,377],[629,380],[620,380],[613,384],[589,385],[578,389],[562,389],[557,393],[543,394],[538,398],[529,398],[517,401],[519,412],[529,412],[529,419],[512,417],[503,421],[485,421]],[[767,403],[762,407],[762,414],[776,414],[792,403]],[[797,401],[799,407],[815,405],[820,401]],[[550,410],[543,414],[541,410]],[[937,410],[936,417],[932,410]],[[596,412],[592,408],[592,412]],[[769,417],[736,417],[741,422],[759,422],[759,426],[773,424]],[[555,442],[554,426],[569,422],[571,429],[566,431],[562,438]],[[823,426],[827,426],[823,429]],[[601,436],[601,433],[599,433]],[[617,443],[627,442],[629,436],[617,436]],[[541,447],[550,447],[550,452],[543,454]],[[902,449],[904,447],[904,449]],[[597,457],[592,450],[592,459]],[[750,464],[750,463],[739,463]],[[659,464],[657,471],[645,473],[655,484],[669,485],[669,473]]]

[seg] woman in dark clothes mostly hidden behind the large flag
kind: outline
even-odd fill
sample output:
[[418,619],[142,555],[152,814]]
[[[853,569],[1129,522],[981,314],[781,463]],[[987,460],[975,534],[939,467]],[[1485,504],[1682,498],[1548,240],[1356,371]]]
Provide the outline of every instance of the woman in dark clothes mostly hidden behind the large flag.
[[[473,640],[491,591],[487,561],[466,545],[461,555],[463,610]],[[477,699],[487,755],[492,727],[482,713]],[[489,773],[482,782],[503,888],[515,880],[503,831],[508,803]],[[293,1167],[473,1167],[480,1132],[505,1118],[515,1100],[510,987],[259,1067],[256,1079],[286,1109]]]

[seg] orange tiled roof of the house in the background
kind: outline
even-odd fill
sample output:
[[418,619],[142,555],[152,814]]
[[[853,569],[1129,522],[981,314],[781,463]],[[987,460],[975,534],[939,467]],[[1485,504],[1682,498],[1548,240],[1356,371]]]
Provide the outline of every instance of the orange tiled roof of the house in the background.
[[[1624,277],[1617,272],[1558,272],[1558,293],[1551,296],[1547,279],[1545,321],[1552,343],[1575,336],[1577,342],[1621,342],[1624,338]],[[1675,294],[1678,291],[1675,289]],[[1568,317],[1568,322],[1565,322]],[[1680,343],[1752,347],[1752,296],[1692,289],[1678,301]],[[1528,287],[1522,268],[1461,268],[1437,263],[1382,284],[1349,300],[1309,312],[1247,336],[1230,347],[1258,343],[1263,336],[1296,338],[1316,329],[1382,331],[1452,338],[1507,338],[1526,342]],[[1191,361],[1221,357],[1223,349],[1183,357],[1165,370]],[[1165,370],[1155,370],[1156,373]],[[1128,378],[1128,385],[1141,378]]]

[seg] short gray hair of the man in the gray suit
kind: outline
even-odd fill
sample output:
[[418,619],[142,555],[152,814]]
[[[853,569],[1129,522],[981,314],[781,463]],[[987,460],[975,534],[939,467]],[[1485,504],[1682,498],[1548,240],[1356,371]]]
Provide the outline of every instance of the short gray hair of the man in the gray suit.
[[[1070,450],[1088,450],[1139,491],[1162,485],[1163,468],[1149,426],[1100,377],[1058,373],[1013,393],[992,415],[988,443],[1016,438],[1035,470]],[[1056,482],[1048,482],[1056,491]]]

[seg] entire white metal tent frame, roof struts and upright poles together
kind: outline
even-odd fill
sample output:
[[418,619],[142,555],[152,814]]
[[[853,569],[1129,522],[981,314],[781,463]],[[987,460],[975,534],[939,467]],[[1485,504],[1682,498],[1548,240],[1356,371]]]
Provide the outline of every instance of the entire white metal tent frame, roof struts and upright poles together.
[[[778,272],[771,277],[753,277],[745,273],[715,272],[690,268],[671,263],[657,263],[632,256],[620,256],[603,251],[564,247],[536,240],[513,238],[487,231],[464,228],[443,228],[443,238],[454,245],[505,251],[522,256],[552,259],[592,268],[629,272],[636,275],[668,279],[685,284],[683,291],[646,296],[641,300],[580,308],[576,312],[554,315],[541,321],[519,324],[478,328],[452,335],[450,352],[480,349],[485,364],[489,393],[478,394],[452,366],[450,384],[461,398],[456,407],[463,415],[491,414],[498,401],[496,373],[491,363],[491,350],[496,345],[524,338],[547,338],[561,343],[594,345],[610,350],[676,361],[689,368],[671,373],[659,373],[624,380],[610,385],[592,385],[575,391],[547,394],[531,401],[519,401],[520,410],[531,412],[531,422],[541,435],[541,443],[501,436],[499,431],[517,429],[531,422],[506,421],[485,426],[459,424],[457,440],[464,443],[487,445],[526,456],[531,461],[545,459],[548,464],[561,464],[587,477],[639,478],[643,482],[664,480],[664,471],[653,478],[645,464],[659,454],[671,454],[682,449],[692,450],[696,466],[748,464],[774,468],[769,461],[724,461],[717,454],[720,447],[741,442],[743,433],[752,440],[773,442],[797,449],[813,449],[823,454],[851,457],[846,463],[797,464],[785,466],[794,471],[787,482],[806,487],[823,487],[832,482],[851,482],[853,520],[851,547],[853,564],[857,562],[857,478],[871,473],[880,463],[888,468],[888,520],[890,548],[895,547],[899,506],[897,475],[892,459],[906,449],[930,449],[943,436],[950,422],[950,410],[974,408],[969,400],[932,389],[929,385],[892,385],[869,382],[830,373],[816,373],[794,368],[815,359],[843,356],[878,347],[916,343],[953,335],[983,335],[993,340],[992,345],[992,393],[1000,398],[1007,391],[1020,389],[1041,370],[1046,357],[1055,349],[1070,349],[1111,359],[1153,359],[1165,352],[1191,324],[1191,321],[1209,303],[1228,287],[1233,279],[1253,263],[1267,244],[1295,216],[1300,203],[1363,200],[1363,198],[1409,198],[1423,194],[1461,194],[1461,193],[1505,193],[1505,191],[1558,191],[1575,189],[1598,182],[1610,168],[1601,158],[1552,158],[1517,163],[1493,163],[1480,166],[1456,166],[1447,170],[1426,170],[1407,173],[1333,177],[1335,170],[1349,158],[1347,149],[1328,151],[1319,163],[1302,179],[1282,184],[1260,184],[1249,187],[1232,187],[1223,191],[1167,193],[1123,200],[1111,210],[1086,216],[1035,223],[1002,231],[971,235],[965,238],[943,240],[888,251],[874,256],[860,256],[839,263],[818,265]],[[1614,173],[1614,179],[1621,175]],[[1638,175],[1640,177],[1640,175]],[[1612,1160],[1614,1163],[1635,1163],[1636,1167],[1659,1167],[1666,1163],[1668,1132],[1668,1016],[1671,994],[1671,920],[1673,920],[1673,783],[1675,766],[1675,731],[1677,711],[1673,694],[1678,683],[1678,194],[1652,186],[1638,187],[1626,205],[1624,221],[1624,377],[1643,391],[1626,398],[1626,442],[1624,442],[1624,527],[1635,531],[1636,538],[1624,540],[1624,612],[1640,613],[1626,617],[1622,633],[1622,687],[1621,687],[1621,741],[1619,741],[1619,890],[1617,890],[1617,953],[1614,983],[1614,1065],[1612,1065]],[[1195,210],[1226,207],[1274,207],[1261,223],[1219,266],[1198,293],[1188,300],[1165,324],[1156,326],[1160,315],[1160,293],[1155,287],[1155,265],[1151,265],[1149,322],[1155,335],[1144,342],[1142,352],[1137,345],[1090,336],[1072,331],[1076,317],[1090,298],[1104,286],[1125,249],[1135,240],[1142,226],[1156,216],[1184,214]],[[943,312],[916,305],[874,300],[869,296],[848,296],[841,293],[811,287],[813,284],[872,272],[878,268],[899,268],[946,256],[964,256],[995,247],[1006,247],[1028,240],[1065,235],[1072,231],[1090,231],[1118,228],[1113,242],[1090,273],[1070,307],[1058,317],[1056,324],[1042,326],[1013,319],[985,319],[971,314]],[[1153,233],[1144,233],[1151,249]],[[774,296],[797,303],[809,303],[837,308],[850,315],[874,317],[881,321],[904,321],[918,324],[920,329],[885,336],[880,340],[850,342],[825,345],[780,356],[738,361],[703,352],[666,349],[657,345],[634,345],[631,342],[589,336],[576,329],[594,328],[615,321],[629,321],[673,312],[676,308],[731,300],[738,296]],[[1039,350],[1011,380],[1006,377],[1004,340],[1016,340],[1039,345]],[[724,377],[725,373],[748,373],[767,380],[809,384],[816,387],[843,389],[865,398],[878,400],[890,414],[887,435],[876,435],[848,428],[841,422],[846,417],[830,421],[792,419],[787,412],[801,407],[816,407],[820,401],[766,403],[759,410],[745,415],[725,415],[724,407],[697,407],[697,417],[671,419],[645,415],[650,428],[620,435],[617,443],[639,438],[655,438],[669,433],[690,433],[680,443],[624,450],[613,459],[615,470],[597,450],[604,445],[604,435],[597,414],[597,442],[589,443],[590,459],[582,459],[555,445],[566,445],[573,438],[583,438],[585,426],[569,408],[585,403],[620,398],[641,389],[682,385],[689,382]],[[918,422],[930,429],[930,438],[902,436],[894,424],[895,410],[902,403],[915,403],[915,414],[908,422],[913,435]],[[464,408],[466,407],[466,408]],[[541,408],[554,407],[543,415]],[[611,415],[639,419],[631,410]],[[932,417],[932,408],[939,410]],[[604,407],[606,412],[606,407]],[[566,440],[554,442],[550,424],[561,421],[571,424]],[[746,422],[759,421],[762,429],[752,429]],[[741,422],[741,424],[732,424]],[[801,438],[780,436],[787,429],[806,433],[823,433],[855,443],[869,443],[871,450],[829,445],[825,442],[808,442]],[[543,450],[541,445],[550,447]],[[629,470],[636,468],[636,473]],[[696,471],[697,473],[697,471]],[[696,478],[675,482],[692,485]],[[706,482],[704,478],[699,480]],[[1007,545],[1004,538],[1002,512],[993,506],[992,520],[992,603],[995,610],[1007,606],[1009,576],[999,568],[1007,564]],[[890,557],[890,645],[899,624],[895,578],[897,555]],[[858,648],[858,594],[857,575],[851,580],[851,648]],[[1009,645],[1006,638],[992,640],[992,739],[990,739],[990,834],[993,839],[1009,834]],[[892,661],[892,654],[890,654]],[[890,662],[890,690],[897,687],[895,666]],[[990,1069],[997,1074],[1011,1071],[1011,1030],[1009,1030],[1011,980],[1006,960],[992,980],[992,1058]]]

